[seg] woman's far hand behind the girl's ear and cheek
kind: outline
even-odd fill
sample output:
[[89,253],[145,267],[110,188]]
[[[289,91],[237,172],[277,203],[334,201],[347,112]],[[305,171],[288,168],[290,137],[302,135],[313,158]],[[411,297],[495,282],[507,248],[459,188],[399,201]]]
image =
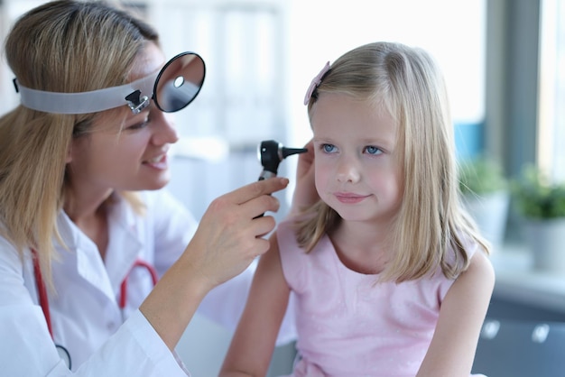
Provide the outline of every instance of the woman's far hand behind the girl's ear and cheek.
[[292,194],[291,216],[301,213],[307,207],[320,200],[314,181],[314,143],[312,140],[306,143],[304,148],[308,152],[298,155],[298,167],[296,169],[296,188]]

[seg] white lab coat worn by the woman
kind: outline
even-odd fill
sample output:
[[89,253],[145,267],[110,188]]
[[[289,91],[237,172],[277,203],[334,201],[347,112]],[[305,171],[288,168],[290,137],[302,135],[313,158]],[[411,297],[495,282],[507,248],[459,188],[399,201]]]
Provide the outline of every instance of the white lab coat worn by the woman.
[[[197,222],[165,190],[144,192],[147,211],[137,216],[116,196],[109,211],[106,261],[86,234],[61,213],[53,262],[57,294],[49,295],[55,344],[70,354],[72,372],[60,359],[47,330],[32,269],[0,237],[0,374],[9,376],[186,376],[181,361],[164,345],[137,309],[153,284],[148,271],[128,275],[126,308],[116,298],[135,259],[150,262],[161,276],[184,251]],[[212,290],[199,313],[233,329],[245,305],[253,266]],[[289,317],[289,316],[287,316]],[[292,319],[292,318],[291,318]],[[285,318],[280,343],[294,336]]]

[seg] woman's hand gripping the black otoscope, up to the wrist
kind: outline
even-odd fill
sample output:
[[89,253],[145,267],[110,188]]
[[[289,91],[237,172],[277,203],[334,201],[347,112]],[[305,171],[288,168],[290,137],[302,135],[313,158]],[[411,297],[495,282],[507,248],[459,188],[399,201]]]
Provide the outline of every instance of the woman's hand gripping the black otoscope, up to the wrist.
[[287,185],[285,178],[264,179],[212,201],[187,248],[210,289],[244,271],[269,249],[262,236],[273,230],[274,218],[257,216],[279,209],[278,199],[270,194]]

